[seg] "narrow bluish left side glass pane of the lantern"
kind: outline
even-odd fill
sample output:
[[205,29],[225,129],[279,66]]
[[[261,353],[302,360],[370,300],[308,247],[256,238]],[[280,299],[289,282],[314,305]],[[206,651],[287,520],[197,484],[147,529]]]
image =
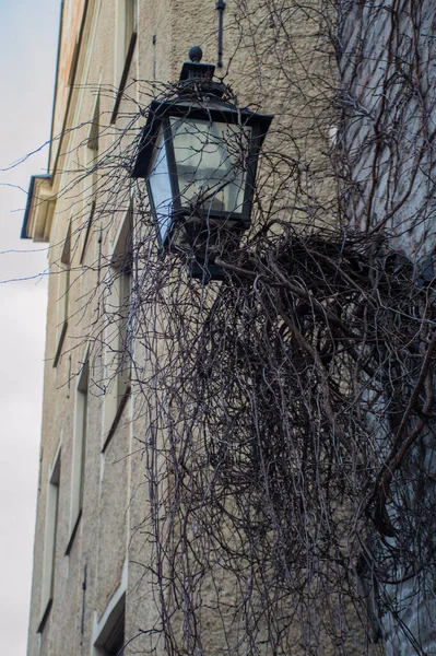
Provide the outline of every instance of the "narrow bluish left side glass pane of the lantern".
[[164,242],[172,223],[173,192],[169,178],[168,159],[166,156],[164,132],[162,128],[157,136],[156,144],[152,155],[149,185],[152,192],[161,242]]

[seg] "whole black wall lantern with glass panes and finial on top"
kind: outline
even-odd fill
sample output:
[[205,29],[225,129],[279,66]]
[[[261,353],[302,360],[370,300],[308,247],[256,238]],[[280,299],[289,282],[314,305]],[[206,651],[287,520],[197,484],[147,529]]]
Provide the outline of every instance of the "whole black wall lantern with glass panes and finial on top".
[[250,226],[259,149],[272,116],[223,99],[215,67],[189,51],[178,95],[153,101],[132,175],[145,178],[162,250],[189,260],[191,276],[221,278],[215,258]]

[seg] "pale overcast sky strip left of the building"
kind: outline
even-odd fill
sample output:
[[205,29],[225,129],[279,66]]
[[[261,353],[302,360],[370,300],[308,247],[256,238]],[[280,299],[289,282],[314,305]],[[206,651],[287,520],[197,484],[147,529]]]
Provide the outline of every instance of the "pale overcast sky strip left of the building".
[[8,656],[24,656],[27,643],[47,289],[38,277],[45,245],[21,241],[20,231],[31,175],[46,173],[48,149],[4,169],[49,138],[59,12],[60,0],[0,0],[0,630]]

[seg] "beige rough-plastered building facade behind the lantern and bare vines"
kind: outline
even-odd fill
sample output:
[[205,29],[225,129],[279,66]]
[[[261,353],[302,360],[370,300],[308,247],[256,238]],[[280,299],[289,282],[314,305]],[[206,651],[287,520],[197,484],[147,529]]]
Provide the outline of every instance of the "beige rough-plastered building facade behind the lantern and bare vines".
[[[263,459],[268,454],[268,448],[258,448],[256,442],[261,418],[255,421],[251,413],[250,426],[246,429],[239,417],[240,408],[245,412],[246,406],[254,403],[257,393],[251,394],[251,388],[261,389],[264,399],[269,399],[268,390],[275,389],[275,384],[280,389],[286,388],[290,383],[283,363],[293,362],[293,371],[299,366],[301,373],[310,368],[315,372],[310,376],[321,379],[322,406],[322,374],[315,365],[298,364],[296,342],[286,341],[290,325],[285,312],[280,315],[276,335],[268,321],[262,329],[270,341],[274,333],[274,349],[285,352],[283,366],[278,356],[274,379],[259,374],[267,380],[266,389],[262,382],[255,383],[256,367],[245,373],[241,366],[239,387],[244,388],[244,402],[239,399],[232,405],[232,396],[227,396],[226,388],[239,389],[237,382],[232,378],[232,386],[223,383],[227,347],[216,345],[216,352],[222,353],[216,371],[224,366],[220,384],[207,367],[203,371],[198,363],[192,364],[195,359],[190,359],[191,353],[184,353],[184,348],[189,351],[190,345],[192,354],[197,349],[199,353],[213,351],[212,331],[208,338],[212,341],[205,340],[204,348],[196,335],[204,337],[201,329],[225,292],[220,292],[214,283],[202,286],[189,279],[181,263],[177,266],[177,258],[176,268],[167,263],[161,267],[145,187],[142,180],[131,177],[146,108],[153,99],[174,97],[190,46],[201,45],[204,60],[214,60],[223,11],[224,66],[215,73],[233,90],[227,93],[237,94],[238,106],[274,115],[258,172],[252,220],[256,235],[262,231],[271,234],[271,244],[279,250],[278,241],[280,235],[286,235],[286,225],[296,226],[296,234],[304,234],[306,244],[317,231],[343,235],[345,225],[352,223],[350,216],[360,232],[368,233],[375,225],[373,213],[379,216],[382,206],[393,232],[400,221],[392,208],[401,216],[404,212],[412,216],[404,230],[413,235],[416,247],[413,253],[408,250],[408,256],[412,260],[419,259],[419,251],[427,256],[433,250],[428,237],[433,233],[431,229],[429,233],[423,232],[424,223],[417,216],[421,211],[427,212],[425,221],[431,225],[427,200],[433,187],[428,187],[428,172],[423,178],[421,173],[414,174],[410,190],[404,192],[401,187],[406,183],[397,179],[397,198],[388,189],[392,183],[386,181],[388,163],[376,162],[377,168],[368,173],[362,157],[362,152],[367,152],[369,160],[374,153],[376,159],[382,159],[377,140],[369,133],[374,122],[377,127],[374,113],[384,97],[384,82],[378,79],[380,68],[386,60],[386,66],[390,66],[386,52],[393,50],[393,46],[386,46],[389,40],[378,44],[379,28],[386,30],[389,37],[387,19],[381,20],[384,16],[374,8],[377,20],[369,9],[366,15],[366,9],[361,7],[365,3],[358,8],[356,3],[342,4],[334,9],[321,0],[293,1],[286,7],[275,0],[228,0],[220,10],[209,0],[62,3],[48,173],[31,181],[23,225],[23,237],[50,245],[28,656],[49,656],[66,649],[74,656],[373,655],[385,653],[386,645],[390,653],[404,655],[432,654],[435,649],[432,621],[417,620],[425,613],[408,606],[408,589],[396,597],[397,609],[408,606],[400,618],[406,628],[402,633],[391,629],[392,609],[388,612],[380,608],[373,582],[369,587],[366,585],[370,576],[361,576],[357,557],[362,544],[356,546],[358,540],[345,529],[341,534],[344,518],[354,517],[355,511],[343,497],[338,501],[340,493],[333,500],[325,494],[326,482],[319,488],[317,482],[306,488],[303,479],[311,471],[311,460],[309,457],[303,465],[297,462],[297,455],[305,452],[303,443],[302,452],[299,446],[292,450],[292,446],[287,465],[292,484],[298,479],[303,492],[295,489],[292,496],[296,501],[288,506],[288,500],[272,500],[272,489],[267,509],[256,503],[252,507],[239,506],[239,491],[240,500],[250,497],[245,484],[239,491],[225,488],[222,496],[221,489],[208,496],[216,479],[222,477],[225,481],[226,467],[231,471],[235,461],[239,471],[246,472],[249,465],[255,479],[270,481],[262,467],[272,469],[276,459],[284,458],[283,454],[272,453],[267,466],[259,464],[259,453]],[[428,4],[425,25],[432,23],[433,14]],[[409,26],[404,26],[403,38],[408,31]],[[409,38],[413,43],[413,31]],[[368,51],[362,51],[363,46]],[[373,66],[374,52],[377,65]],[[404,57],[408,54],[409,50]],[[428,60],[433,60],[432,52]],[[425,71],[428,70],[427,61]],[[369,94],[368,102],[365,93]],[[414,115],[413,98],[411,103]],[[409,121],[409,115],[404,116],[403,122]],[[387,131],[398,125],[396,120],[388,116]],[[419,122],[419,118],[414,120]],[[424,139],[413,132],[409,140],[414,142],[410,157],[416,156],[416,148],[420,151],[419,138]],[[344,151],[346,157],[342,156]],[[429,153],[427,149],[422,155],[428,169]],[[416,166],[422,171],[421,161]],[[406,177],[409,174],[400,168],[398,177]],[[414,185],[423,188],[420,194],[426,209],[415,208],[411,214],[408,208],[415,198]],[[390,209],[385,207],[388,197]],[[401,246],[401,236],[398,239]],[[397,242],[392,242],[396,248]],[[251,279],[254,260],[244,260],[244,253],[236,265],[232,259],[224,262],[227,271],[250,280],[243,317],[249,313],[255,317],[259,312],[257,306],[250,306],[250,298],[269,276],[276,276],[272,289],[286,284],[290,288],[297,281],[290,293],[295,293],[299,302],[306,293],[299,288],[298,272],[284,283],[264,253],[259,248],[260,268]],[[233,265],[236,268],[232,270]],[[310,291],[303,301],[319,316],[320,306],[313,295]],[[283,298],[279,301],[284,303]],[[233,303],[235,309],[227,315],[232,320],[239,312],[235,300]],[[280,303],[275,301],[275,307]],[[262,312],[271,314],[266,303]],[[307,311],[302,312],[305,317]],[[262,321],[256,317],[250,328],[255,326],[254,330]],[[303,332],[304,325],[305,319],[301,319],[299,329],[294,326],[294,335]],[[310,349],[316,340],[314,336],[310,339],[314,341],[306,351],[313,356]],[[321,344],[321,351],[322,348]],[[258,353],[259,349],[254,348],[247,361],[256,362]],[[235,362],[239,362],[237,358]],[[270,353],[269,362],[271,358]],[[181,366],[173,366],[173,362],[181,362]],[[231,370],[237,371],[235,366]],[[339,370],[343,366],[340,364]],[[267,371],[263,364],[259,371]],[[301,387],[302,399],[314,386],[310,376],[307,385]],[[350,388],[350,382],[345,376],[344,379],[344,387]],[[202,389],[200,410],[191,402],[193,380],[196,389]],[[208,394],[202,387],[204,380],[210,383]],[[274,409],[275,402],[276,399],[268,400],[267,406]],[[293,403],[292,399],[282,402],[283,407]],[[215,408],[212,419],[205,407]],[[291,419],[299,417],[299,411],[298,403],[294,403]],[[286,424],[286,413],[287,410],[275,412],[284,418],[279,423]],[[340,415],[334,403],[330,414]],[[321,419],[317,440],[326,431]],[[263,430],[264,434],[269,430],[275,434],[274,422],[275,419]],[[339,434],[339,420],[337,425],[334,435]],[[233,435],[239,429],[241,435],[249,433],[255,437],[243,441],[236,454],[232,450]],[[286,438],[292,443],[295,431],[292,426],[286,430]],[[304,429],[307,435],[311,431]],[[184,443],[187,436],[189,444]],[[425,440],[429,441],[429,435]],[[270,442],[272,437],[267,440]],[[346,445],[338,448],[342,447]],[[338,462],[342,462],[343,455],[338,456],[335,445],[328,453],[321,447],[318,456],[316,450],[314,447],[314,458],[318,458],[314,479],[318,475],[334,478],[334,468],[340,469]],[[326,473],[327,461],[331,471]],[[353,490],[361,485],[358,476]],[[279,473],[276,477],[274,484],[280,480]],[[287,490],[286,476],[283,480],[283,489]],[[314,514],[309,509],[303,515],[304,500],[316,499],[317,494],[320,496]],[[280,516],[280,505],[284,518]],[[220,511],[220,522],[216,513],[210,511],[213,507]],[[322,525],[318,536],[317,522],[322,524],[326,513],[330,513],[332,524],[328,530]],[[288,530],[285,519],[294,514],[299,517],[292,525],[294,528],[302,526],[305,517],[299,542],[299,538],[294,540],[295,530],[291,525]],[[267,517],[268,522],[257,523],[255,516]],[[361,515],[355,516],[357,525]],[[212,535],[209,527],[215,523],[220,530]],[[335,534],[338,538],[334,554],[323,547],[325,528],[326,535]],[[368,538],[370,530],[365,528],[360,538]],[[208,557],[203,558],[205,553]],[[317,564],[309,562],[305,553],[317,553]],[[330,559],[328,570],[323,569],[323,553]],[[343,565],[345,561],[347,565]],[[341,567],[345,574],[338,577],[340,585],[333,585],[331,573]],[[301,590],[301,598],[293,597],[290,590]],[[427,594],[425,604],[429,608]],[[428,612],[427,617],[433,618],[433,612]],[[416,644],[422,652],[410,651],[416,649]]]

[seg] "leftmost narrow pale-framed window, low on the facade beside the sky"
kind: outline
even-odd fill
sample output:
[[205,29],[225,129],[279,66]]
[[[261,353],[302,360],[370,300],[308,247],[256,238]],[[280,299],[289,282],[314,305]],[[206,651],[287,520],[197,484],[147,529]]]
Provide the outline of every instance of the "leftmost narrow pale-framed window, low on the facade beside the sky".
[[46,530],[44,537],[43,555],[43,585],[42,585],[42,621],[38,633],[42,633],[54,599],[55,591],[55,561],[57,547],[57,524],[60,480],[60,450],[55,458],[48,478],[47,506],[46,506]]

